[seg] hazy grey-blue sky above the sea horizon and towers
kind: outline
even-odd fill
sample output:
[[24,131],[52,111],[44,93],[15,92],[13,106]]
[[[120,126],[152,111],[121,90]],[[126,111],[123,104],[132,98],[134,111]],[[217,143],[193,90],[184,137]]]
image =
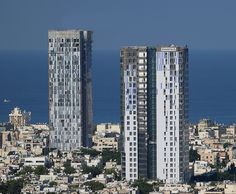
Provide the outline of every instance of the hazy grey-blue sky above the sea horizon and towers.
[[0,50],[46,50],[49,29],[91,29],[94,49],[236,50],[236,0],[1,0]]

